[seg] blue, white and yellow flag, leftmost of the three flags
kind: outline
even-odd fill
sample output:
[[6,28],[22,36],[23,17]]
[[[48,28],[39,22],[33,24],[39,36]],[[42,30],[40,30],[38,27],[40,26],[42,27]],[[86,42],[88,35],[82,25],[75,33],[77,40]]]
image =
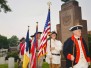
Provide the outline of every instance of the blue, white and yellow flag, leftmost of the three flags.
[[23,57],[23,68],[27,68],[28,63],[29,63],[29,29],[26,35],[25,50]]

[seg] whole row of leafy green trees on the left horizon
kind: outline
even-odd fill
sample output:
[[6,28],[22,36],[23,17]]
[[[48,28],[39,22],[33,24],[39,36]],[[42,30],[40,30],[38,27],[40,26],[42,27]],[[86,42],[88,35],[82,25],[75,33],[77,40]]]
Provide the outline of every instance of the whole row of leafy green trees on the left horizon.
[[19,39],[17,36],[12,36],[11,38],[7,39],[6,36],[0,35],[0,49],[5,48],[8,49],[9,46],[17,46]]

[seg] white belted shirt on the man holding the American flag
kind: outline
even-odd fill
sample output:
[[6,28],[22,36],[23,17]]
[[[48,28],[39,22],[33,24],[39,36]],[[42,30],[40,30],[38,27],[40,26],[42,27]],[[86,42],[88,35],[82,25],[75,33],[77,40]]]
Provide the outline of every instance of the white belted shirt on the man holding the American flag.
[[61,55],[52,55],[53,54],[60,54],[62,50],[62,43],[58,40],[51,39],[51,47],[55,47],[54,50],[50,51],[50,40],[47,42],[47,55],[46,55],[46,62],[50,64],[50,58],[52,57],[52,64],[60,64]]

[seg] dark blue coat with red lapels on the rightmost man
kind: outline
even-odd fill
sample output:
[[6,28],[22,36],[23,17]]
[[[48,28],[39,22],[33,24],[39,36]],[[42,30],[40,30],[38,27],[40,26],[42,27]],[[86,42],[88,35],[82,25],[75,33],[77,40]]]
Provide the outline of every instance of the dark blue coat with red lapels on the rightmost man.
[[[86,56],[89,57],[88,48],[87,48],[87,45],[86,45],[86,43],[85,43],[85,41],[84,41],[83,38],[82,38],[82,43],[83,43],[82,46],[84,47],[84,51],[86,53]],[[66,68],[72,67],[72,61],[71,61],[71,59],[68,59],[68,54],[73,55],[73,44],[75,44],[75,43],[73,42],[72,37],[71,38],[68,38],[64,42],[63,54],[64,54],[64,57],[66,58]],[[76,61],[78,61],[78,59],[79,59],[79,58],[76,59],[77,57],[79,57],[79,56],[77,56],[77,53],[76,53],[77,52],[77,49],[78,48],[75,46],[75,48],[74,48],[74,58],[75,58],[74,59],[74,65],[77,64]],[[80,53],[80,52],[78,52],[78,53]],[[88,59],[88,61],[90,61],[90,58],[87,58],[87,59]]]

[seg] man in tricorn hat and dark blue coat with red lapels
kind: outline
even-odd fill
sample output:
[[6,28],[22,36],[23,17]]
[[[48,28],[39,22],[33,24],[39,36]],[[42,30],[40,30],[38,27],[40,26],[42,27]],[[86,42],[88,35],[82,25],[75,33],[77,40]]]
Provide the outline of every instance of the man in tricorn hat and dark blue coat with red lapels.
[[66,58],[66,68],[88,68],[90,62],[85,40],[81,36],[82,25],[76,25],[69,30],[72,37],[64,42],[63,54]]

